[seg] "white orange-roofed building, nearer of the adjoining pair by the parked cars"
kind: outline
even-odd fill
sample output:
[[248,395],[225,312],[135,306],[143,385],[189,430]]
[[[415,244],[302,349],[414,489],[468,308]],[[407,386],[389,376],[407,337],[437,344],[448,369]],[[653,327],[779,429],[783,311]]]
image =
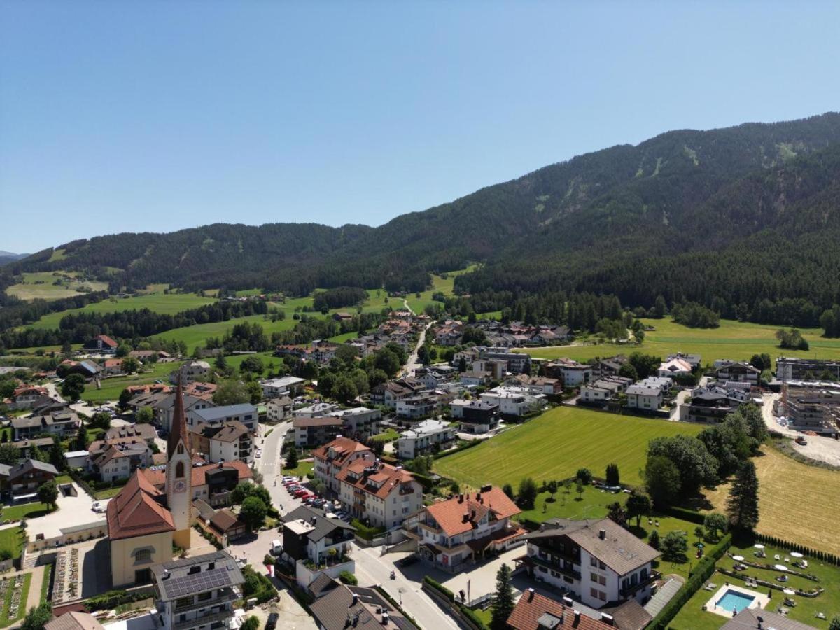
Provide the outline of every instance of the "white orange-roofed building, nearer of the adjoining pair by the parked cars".
[[371,527],[392,529],[423,507],[423,486],[402,466],[376,461],[373,453],[350,462],[336,479],[345,509]]

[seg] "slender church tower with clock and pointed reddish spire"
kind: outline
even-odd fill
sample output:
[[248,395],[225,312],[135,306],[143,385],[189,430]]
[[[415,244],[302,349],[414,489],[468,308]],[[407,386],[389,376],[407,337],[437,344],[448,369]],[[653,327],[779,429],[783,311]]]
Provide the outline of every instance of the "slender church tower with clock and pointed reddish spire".
[[172,426],[166,442],[166,504],[175,521],[172,542],[181,549],[190,549],[192,526],[192,454],[190,434],[186,430],[181,378],[175,393]]

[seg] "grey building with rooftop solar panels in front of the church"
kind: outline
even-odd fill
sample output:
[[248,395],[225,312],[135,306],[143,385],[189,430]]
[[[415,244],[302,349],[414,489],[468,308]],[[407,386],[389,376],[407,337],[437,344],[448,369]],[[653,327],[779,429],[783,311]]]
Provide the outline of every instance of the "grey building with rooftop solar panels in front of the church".
[[230,554],[217,551],[155,564],[155,611],[164,630],[233,627],[244,575]]

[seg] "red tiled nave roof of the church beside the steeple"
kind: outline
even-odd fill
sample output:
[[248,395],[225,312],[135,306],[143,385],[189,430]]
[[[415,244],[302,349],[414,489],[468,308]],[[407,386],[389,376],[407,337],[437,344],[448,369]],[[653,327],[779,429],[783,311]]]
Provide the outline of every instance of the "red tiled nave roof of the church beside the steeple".
[[156,501],[161,492],[139,470],[108,502],[108,537],[112,540],[174,532],[172,513]]

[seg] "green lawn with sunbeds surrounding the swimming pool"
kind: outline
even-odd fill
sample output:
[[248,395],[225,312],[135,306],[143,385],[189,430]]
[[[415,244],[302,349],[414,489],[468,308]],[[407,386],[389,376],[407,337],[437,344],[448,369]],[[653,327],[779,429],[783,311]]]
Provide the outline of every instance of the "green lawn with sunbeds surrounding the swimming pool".
[[[790,538],[793,537],[790,536]],[[790,563],[785,562],[785,557],[790,558],[790,552],[785,552],[784,549],[774,549],[768,546],[767,549],[765,549],[767,552],[767,559],[755,558],[753,555],[753,546],[749,542],[732,544],[729,551],[732,555],[743,555],[748,562],[769,562],[771,564],[774,562],[774,555],[780,554],[783,564],[790,566]],[[793,560],[793,558],[790,559]],[[828,627],[832,616],[837,614],[837,612],[840,612],[840,589],[837,589],[837,584],[840,583],[840,568],[827,564],[821,564],[816,559],[807,558],[807,560],[807,572],[811,573],[811,575],[816,575],[816,577],[820,580],[819,585],[822,585],[826,591],[823,592],[822,595],[813,598],[793,596],[792,598],[796,602],[796,606],[792,608],[790,606],[785,606],[785,608],[790,611],[788,614],[790,619],[794,619],[795,621],[802,622],[813,627]],[[732,570],[732,564],[734,564],[733,560],[724,556],[718,561],[717,566]],[[793,567],[791,566],[791,568]],[[746,573],[747,575],[757,577],[760,580],[769,581],[774,580],[776,575],[779,575],[778,571],[757,569],[754,567],[748,567]],[[721,573],[715,573],[711,576],[711,578],[709,578],[709,581],[717,584],[718,586],[722,586],[724,582],[728,581],[732,585],[747,588],[747,585],[743,580],[738,580],[737,578],[732,578]],[[807,590],[816,586],[817,583],[796,575],[790,575],[787,585],[790,585],[790,587],[795,590]],[[759,586],[758,589],[750,587],[750,590],[760,591],[765,595],[767,591],[769,591],[769,589],[764,586]],[[680,614],[674,618],[674,621],[670,622],[669,627],[674,628],[675,630],[717,630],[717,628],[721,627],[725,622],[725,618],[720,615],[716,615],[713,612],[706,612],[703,610],[703,606],[706,605],[706,601],[709,601],[711,596],[716,592],[717,589],[711,592],[703,589],[697,591],[688,603],[683,606]],[[783,605],[782,602],[784,599],[785,595],[781,591],[774,590],[766,609],[775,612],[779,606]],[[817,612],[824,613],[826,617],[828,617],[827,620],[822,621],[817,619],[815,617]]]

